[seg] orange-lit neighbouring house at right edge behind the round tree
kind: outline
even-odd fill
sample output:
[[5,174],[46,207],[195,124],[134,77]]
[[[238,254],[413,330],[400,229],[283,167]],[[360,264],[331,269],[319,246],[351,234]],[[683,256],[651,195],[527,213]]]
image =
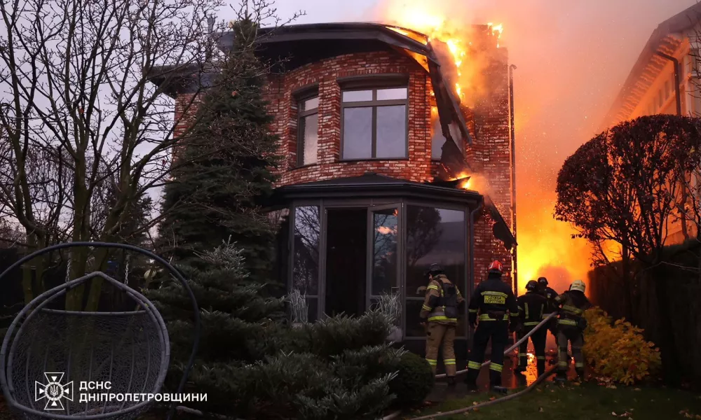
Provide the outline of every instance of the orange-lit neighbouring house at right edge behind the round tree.
[[[601,130],[621,121],[655,114],[701,116],[699,60],[701,3],[665,20],[653,31],[635,62]],[[693,186],[698,180],[693,177]],[[667,244],[684,241],[679,216],[667,228]],[[696,226],[687,223],[686,235]]]

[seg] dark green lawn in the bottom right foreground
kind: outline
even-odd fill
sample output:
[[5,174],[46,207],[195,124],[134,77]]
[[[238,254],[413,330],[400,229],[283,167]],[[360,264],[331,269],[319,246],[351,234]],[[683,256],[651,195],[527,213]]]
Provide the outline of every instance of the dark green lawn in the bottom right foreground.
[[[443,402],[414,416],[449,412],[494,398],[481,394]],[[402,416],[411,419],[413,416]],[[701,395],[669,388],[607,388],[597,384],[559,386],[540,385],[530,393],[513,400],[470,411],[469,414],[444,416],[440,419],[491,420],[590,420],[622,417],[635,420],[695,419],[701,420]]]

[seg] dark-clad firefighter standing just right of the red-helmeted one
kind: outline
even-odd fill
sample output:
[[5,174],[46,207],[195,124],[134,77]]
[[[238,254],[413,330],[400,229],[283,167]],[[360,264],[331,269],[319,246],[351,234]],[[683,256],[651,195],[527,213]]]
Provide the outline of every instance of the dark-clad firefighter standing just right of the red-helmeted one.
[[[519,296],[517,302],[519,306],[519,318],[521,318],[521,325],[523,325],[523,329],[519,332],[519,339],[522,339],[543,319],[543,313],[547,307],[547,300],[545,300],[545,296],[538,293],[538,282],[531,280],[526,283],[526,294]],[[545,328],[540,328],[531,335],[533,349],[536,352],[538,377],[545,373],[546,337],[547,329]],[[524,372],[526,370],[526,366],[528,365],[527,349],[528,339],[519,346],[519,365],[516,368],[516,372]]]

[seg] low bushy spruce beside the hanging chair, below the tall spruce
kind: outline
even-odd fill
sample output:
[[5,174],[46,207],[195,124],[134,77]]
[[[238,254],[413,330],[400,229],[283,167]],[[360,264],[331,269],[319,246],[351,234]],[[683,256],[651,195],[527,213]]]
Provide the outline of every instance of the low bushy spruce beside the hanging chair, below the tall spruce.
[[[198,302],[201,320],[197,357],[184,392],[207,393],[207,402],[196,407],[228,414],[240,386],[248,384],[237,380],[240,372],[282,349],[284,300],[261,295],[262,286],[248,279],[236,244],[224,243],[196,258],[198,268],[177,267]],[[175,280],[144,294],[168,327],[171,362],[165,386],[175,392],[192,351],[192,302]]]

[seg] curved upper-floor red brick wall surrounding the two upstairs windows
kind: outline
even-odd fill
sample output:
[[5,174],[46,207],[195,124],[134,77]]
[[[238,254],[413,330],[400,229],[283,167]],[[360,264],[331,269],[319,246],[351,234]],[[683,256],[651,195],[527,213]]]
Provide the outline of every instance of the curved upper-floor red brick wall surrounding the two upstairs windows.
[[[341,162],[341,87],[338,78],[382,73],[409,75],[409,158]],[[319,88],[319,139],[316,165],[297,166],[297,104],[292,92],[306,86]],[[275,116],[273,130],[280,135],[285,156],[278,185],[304,183],[376,172],[411,181],[433,178],[430,148],[430,81],[413,59],[398,52],[341,55],[306,64],[271,83],[266,98]]]

